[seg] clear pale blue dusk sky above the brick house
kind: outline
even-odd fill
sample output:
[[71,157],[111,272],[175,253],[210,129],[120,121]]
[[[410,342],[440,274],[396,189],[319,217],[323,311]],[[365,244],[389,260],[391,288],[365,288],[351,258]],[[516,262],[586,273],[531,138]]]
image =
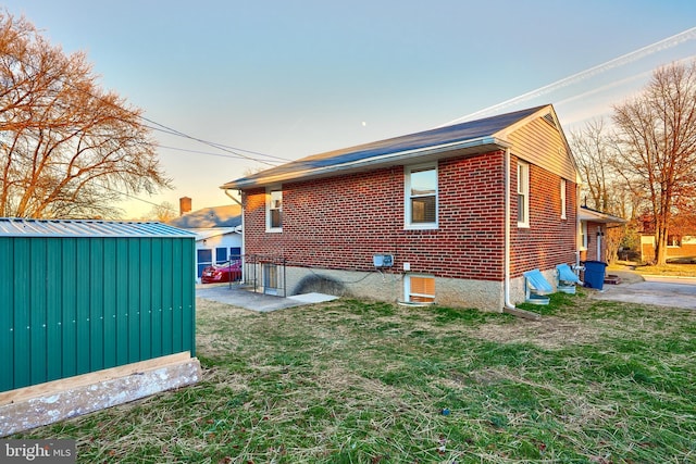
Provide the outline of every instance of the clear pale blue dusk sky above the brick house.
[[471,115],[552,103],[570,136],[656,67],[696,59],[693,0],[4,7],[65,52],[86,51],[102,86],[148,120],[229,147],[154,131],[175,189],[124,202],[126,218],[185,196],[194,209],[228,204],[219,187],[248,170]]

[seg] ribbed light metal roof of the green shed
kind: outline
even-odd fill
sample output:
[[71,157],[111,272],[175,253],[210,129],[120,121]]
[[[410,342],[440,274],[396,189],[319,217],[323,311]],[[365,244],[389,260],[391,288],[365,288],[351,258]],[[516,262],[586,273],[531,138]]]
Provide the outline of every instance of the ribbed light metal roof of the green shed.
[[196,234],[156,222],[0,217],[0,237],[196,238]]

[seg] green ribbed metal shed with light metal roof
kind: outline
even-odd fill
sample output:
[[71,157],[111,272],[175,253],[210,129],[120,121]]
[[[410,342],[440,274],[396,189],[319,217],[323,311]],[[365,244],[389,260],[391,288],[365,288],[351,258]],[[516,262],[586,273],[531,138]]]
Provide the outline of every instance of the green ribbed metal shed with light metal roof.
[[196,350],[196,236],[0,218],[0,392]]

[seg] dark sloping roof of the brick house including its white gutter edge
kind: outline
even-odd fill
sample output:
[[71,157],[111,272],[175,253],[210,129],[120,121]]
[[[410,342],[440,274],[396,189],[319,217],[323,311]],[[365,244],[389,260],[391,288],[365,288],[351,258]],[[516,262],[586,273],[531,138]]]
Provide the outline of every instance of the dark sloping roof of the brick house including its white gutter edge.
[[470,149],[485,151],[505,146],[496,136],[544,108],[542,105],[511,113],[438,127],[357,147],[306,156],[248,177],[229,181],[222,189],[269,185],[295,178],[320,176],[362,164],[388,164],[395,159],[418,155],[432,150]]

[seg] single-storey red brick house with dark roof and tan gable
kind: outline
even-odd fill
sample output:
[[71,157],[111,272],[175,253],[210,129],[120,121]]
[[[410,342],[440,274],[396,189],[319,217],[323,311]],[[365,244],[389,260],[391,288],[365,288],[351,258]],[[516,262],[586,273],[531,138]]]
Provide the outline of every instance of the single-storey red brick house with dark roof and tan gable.
[[256,261],[264,289],[502,311],[524,301],[523,272],[555,283],[557,264],[579,260],[577,185],[544,105],[308,156],[221,188],[241,192],[244,253],[268,256]]

